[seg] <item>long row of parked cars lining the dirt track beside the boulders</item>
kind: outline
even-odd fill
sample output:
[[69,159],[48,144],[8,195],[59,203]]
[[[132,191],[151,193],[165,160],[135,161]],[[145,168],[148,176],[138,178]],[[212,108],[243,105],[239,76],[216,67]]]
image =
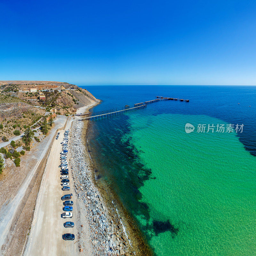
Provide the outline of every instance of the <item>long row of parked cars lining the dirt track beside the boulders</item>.
[[[63,191],[67,191],[70,190],[69,187],[69,177],[68,177],[68,162],[67,162],[67,154],[68,154],[68,134],[69,134],[69,130],[64,132],[64,139],[61,142],[62,144],[62,151],[60,152],[60,168],[61,168],[61,186],[62,186],[62,190]],[[58,133],[59,135],[59,133]],[[57,136],[58,136],[57,135]],[[58,137],[59,138],[59,137]],[[58,138],[56,137],[56,140],[58,140]],[[73,201],[71,201],[70,199],[72,198],[72,193],[64,195],[61,197],[61,200],[64,201],[63,202],[63,213],[62,218],[66,219],[66,218],[72,218],[73,217]],[[73,228],[74,227],[74,222],[72,221],[66,221],[64,223],[64,227],[65,228]],[[71,234],[71,233],[66,233],[62,235],[62,238],[64,240],[74,240],[75,239],[75,235]]]

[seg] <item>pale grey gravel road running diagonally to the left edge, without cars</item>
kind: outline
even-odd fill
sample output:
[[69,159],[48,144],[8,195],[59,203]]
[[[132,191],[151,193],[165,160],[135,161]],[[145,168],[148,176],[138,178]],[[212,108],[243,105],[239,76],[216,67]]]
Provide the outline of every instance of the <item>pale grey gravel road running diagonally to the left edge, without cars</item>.
[[[19,205],[21,203],[22,198],[25,196],[25,192],[30,184],[30,181],[35,175],[35,172],[37,170],[37,167],[40,165],[42,159],[44,158],[47,149],[49,148],[51,144],[51,139],[54,136],[54,133],[57,129],[63,127],[63,124],[65,124],[66,117],[56,118],[55,120],[55,126],[50,132],[50,134],[45,138],[48,139],[48,142],[46,143],[46,147],[44,150],[42,150],[41,154],[39,154],[36,164],[33,169],[29,170],[28,175],[24,182],[21,184],[17,184],[16,186],[19,188],[17,189],[17,193],[13,195],[13,197],[9,198],[8,201],[6,201],[1,209],[0,209],[0,248],[4,249],[4,244],[6,243],[6,239],[10,239],[11,235],[11,228],[13,228],[14,224],[14,217],[17,215],[17,211],[19,211]],[[15,221],[14,221],[15,222]]]

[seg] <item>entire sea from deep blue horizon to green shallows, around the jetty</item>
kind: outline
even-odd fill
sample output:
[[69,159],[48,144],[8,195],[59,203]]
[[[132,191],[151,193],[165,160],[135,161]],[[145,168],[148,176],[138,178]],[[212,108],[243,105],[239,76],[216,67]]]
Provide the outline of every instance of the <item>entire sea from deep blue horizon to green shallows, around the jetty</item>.
[[[102,100],[93,111],[155,96],[190,100],[91,121],[97,179],[114,189],[155,255],[256,254],[256,87],[84,88]],[[221,124],[244,124],[243,132],[216,132]]]

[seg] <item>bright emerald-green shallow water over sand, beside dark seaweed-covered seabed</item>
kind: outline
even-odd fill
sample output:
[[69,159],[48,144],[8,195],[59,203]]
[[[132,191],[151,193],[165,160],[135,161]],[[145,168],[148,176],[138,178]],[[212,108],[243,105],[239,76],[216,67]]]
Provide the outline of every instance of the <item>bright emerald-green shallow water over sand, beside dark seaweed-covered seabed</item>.
[[132,144],[151,177],[140,187],[149,217],[136,215],[158,256],[256,254],[256,158],[235,133],[186,134],[198,115],[129,116]]

